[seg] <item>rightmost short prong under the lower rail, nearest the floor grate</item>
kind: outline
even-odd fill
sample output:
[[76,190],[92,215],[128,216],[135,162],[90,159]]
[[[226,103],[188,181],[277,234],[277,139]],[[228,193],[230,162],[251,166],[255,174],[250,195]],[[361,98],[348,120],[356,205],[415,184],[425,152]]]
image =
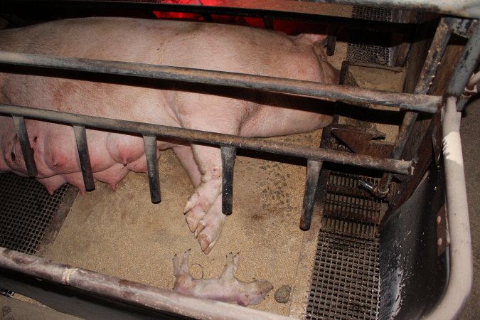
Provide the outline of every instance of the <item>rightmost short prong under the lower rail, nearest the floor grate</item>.
[[300,229],[309,230],[311,215],[314,213],[316,188],[319,184],[319,176],[323,161],[308,160],[306,164],[306,183],[304,193],[304,206],[300,218]]

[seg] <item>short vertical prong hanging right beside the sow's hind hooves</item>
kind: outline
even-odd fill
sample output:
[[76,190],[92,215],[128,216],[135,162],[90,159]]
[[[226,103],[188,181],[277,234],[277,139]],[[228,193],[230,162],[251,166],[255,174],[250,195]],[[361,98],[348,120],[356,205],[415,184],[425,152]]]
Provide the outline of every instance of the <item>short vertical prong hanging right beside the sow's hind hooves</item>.
[[232,213],[233,207],[233,164],[237,148],[235,146],[220,146],[222,154],[222,212]]

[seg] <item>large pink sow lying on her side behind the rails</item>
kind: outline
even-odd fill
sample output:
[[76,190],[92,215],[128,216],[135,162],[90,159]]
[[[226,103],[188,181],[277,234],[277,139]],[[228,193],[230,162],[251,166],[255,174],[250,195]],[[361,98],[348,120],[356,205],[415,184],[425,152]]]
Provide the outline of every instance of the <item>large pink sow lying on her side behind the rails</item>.
[[[78,18],[0,31],[0,50],[336,82],[336,70],[314,46],[324,38],[215,23]],[[109,77],[97,82],[93,75],[57,78],[39,70],[26,75],[5,66],[0,71],[0,102],[12,105],[245,137],[309,132],[331,122],[329,102],[305,97],[165,81],[132,86],[132,80],[127,85]],[[50,193],[65,182],[85,191],[73,129],[28,119],[26,126],[36,179]],[[141,137],[87,129],[87,142],[96,181],[115,189],[129,170],[146,172]],[[161,139],[157,148],[172,148],[195,186],[184,213],[208,254],[225,222],[220,149]],[[25,175],[26,167],[11,117],[0,116],[0,172],[6,171]]]

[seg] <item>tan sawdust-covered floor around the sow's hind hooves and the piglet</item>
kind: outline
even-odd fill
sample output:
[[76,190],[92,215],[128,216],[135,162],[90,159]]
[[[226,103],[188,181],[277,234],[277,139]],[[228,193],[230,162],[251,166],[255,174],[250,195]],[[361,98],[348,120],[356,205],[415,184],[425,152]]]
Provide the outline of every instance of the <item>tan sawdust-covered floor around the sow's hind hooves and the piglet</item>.
[[[318,146],[320,134],[319,130],[274,139]],[[220,276],[228,252],[240,252],[238,279],[268,279],[274,285],[267,299],[254,307],[288,315],[290,305],[275,302],[273,296],[283,284],[295,289],[304,236],[299,220],[306,166],[302,160],[295,164],[288,163],[292,159],[283,161],[238,156],[233,214],[210,255],[201,252],[184,220],[183,206],[193,187],[174,154],[163,151],[159,161],[161,203],[151,203],[144,174],[130,173],[115,192],[107,184],[97,183],[95,191],[78,196],[43,257],[172,288],[171,259],[175,254],[191,248],[193,276],[212,278]]]

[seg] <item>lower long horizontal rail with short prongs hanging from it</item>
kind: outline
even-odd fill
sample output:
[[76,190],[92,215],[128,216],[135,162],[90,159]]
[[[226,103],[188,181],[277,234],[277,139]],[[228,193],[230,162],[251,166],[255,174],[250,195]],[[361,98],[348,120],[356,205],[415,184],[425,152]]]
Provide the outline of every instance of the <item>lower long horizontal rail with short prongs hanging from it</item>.
[[21,107],[16,105],[0,104],[0,113],[20,115],[43,121],[85,125],[87,127],[114,130],[117,132],[156,135],[157,137],[184,139],[207,144],[237,146],[244,149],[265,151],[274,154],[299,156],[316,161],[329,161],[338,164],[363,166],[370,169],[391,171],[397,174],[412,174],[412,161],[381,159],[373,156],[319,149],[311,146],[272,142],[267,139],[238,137],[230,134],[218,134],[193,129],[168,127],[159,124],[146,124],[143,122],[92,117],[84,114],[70,114],[66,112],[34,109],[31,107]]

